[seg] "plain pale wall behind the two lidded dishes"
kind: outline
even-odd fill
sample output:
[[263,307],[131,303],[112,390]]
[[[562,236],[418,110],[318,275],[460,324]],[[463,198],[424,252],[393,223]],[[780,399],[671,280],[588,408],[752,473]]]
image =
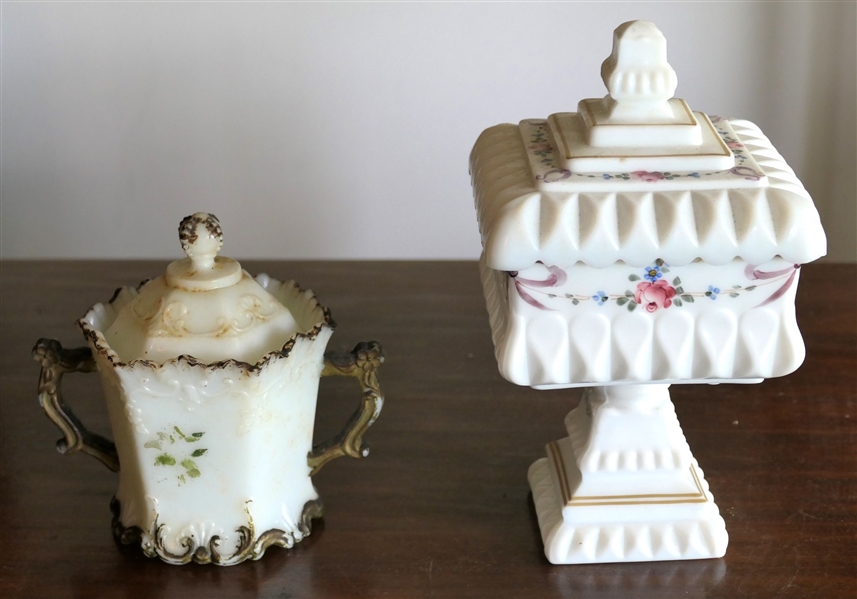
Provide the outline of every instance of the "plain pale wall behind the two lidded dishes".
[[855,4],[4,3],[0,254],[476,258],[468,154],[605,93],[654,21],[677,95],[755,121],[854,260]]

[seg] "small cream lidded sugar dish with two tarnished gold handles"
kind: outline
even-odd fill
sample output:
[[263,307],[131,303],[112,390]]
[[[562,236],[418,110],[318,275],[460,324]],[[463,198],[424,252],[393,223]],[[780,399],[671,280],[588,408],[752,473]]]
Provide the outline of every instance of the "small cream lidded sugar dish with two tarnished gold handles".
[[[39,401],[82,451],[119,473],[111,508],[121,542],[171,564],[237,564],[310,534],[322,503],[311,476],[339,457],[366,457],[381,412],[377,342],[325,352],[330,312],[311,291],[218,256],[220,223],[185,218],[187,257],[139,288],[118,289],[78,325],[87,347],[41,339]],[[69,372],[101,375],[115,441],[89,432],[61,394]],[[313,445],[323,376],[357,379],[357,411]]]

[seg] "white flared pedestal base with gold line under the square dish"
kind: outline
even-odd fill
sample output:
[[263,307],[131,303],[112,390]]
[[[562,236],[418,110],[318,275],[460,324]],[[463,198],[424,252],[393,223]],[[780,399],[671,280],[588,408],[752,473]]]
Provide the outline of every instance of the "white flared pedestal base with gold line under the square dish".
[[[570,438],[549,444],[548,457],[530,467],[551,563],[701,559],[726,552],[726,524],[666,386],[646,387],[639,402],[628,401],[632,389],[619,391],[621,401],[612,402],[603,388],[588,390],[566,419]],[[613,451],[617,441],[624,452]],[[656,459],[637,459],[643,455]]]

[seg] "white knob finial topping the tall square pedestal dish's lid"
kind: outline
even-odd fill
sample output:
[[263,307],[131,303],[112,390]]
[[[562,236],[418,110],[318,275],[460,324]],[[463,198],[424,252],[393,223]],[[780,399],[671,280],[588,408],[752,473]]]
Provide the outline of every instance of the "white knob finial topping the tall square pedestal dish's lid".
[[672,117],[667,101],[677,84],[667,62],[667,40],[649,21],[628,21],[613,32],[613,53],[601,65],[610,92],[610,119],[642,122]]

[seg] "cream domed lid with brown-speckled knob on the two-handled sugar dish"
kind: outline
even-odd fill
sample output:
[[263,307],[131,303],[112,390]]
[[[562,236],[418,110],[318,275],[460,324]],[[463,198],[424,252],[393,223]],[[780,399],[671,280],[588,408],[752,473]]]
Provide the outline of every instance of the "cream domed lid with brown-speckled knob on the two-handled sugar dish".
[[299,332],[283,304],[238,262],[217,255],[223,231],[216,216],[186,217],[179,239],[187,257],[143,285],[104,334],[123,362],[188,355],[254,364]]

